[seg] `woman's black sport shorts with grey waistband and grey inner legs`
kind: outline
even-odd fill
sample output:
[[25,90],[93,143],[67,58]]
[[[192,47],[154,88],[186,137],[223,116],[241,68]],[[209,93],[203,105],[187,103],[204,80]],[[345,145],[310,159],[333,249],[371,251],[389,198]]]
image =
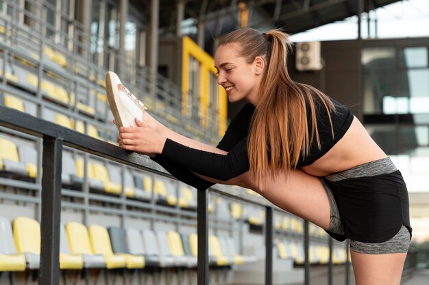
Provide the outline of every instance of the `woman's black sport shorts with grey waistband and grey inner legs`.
[[[341,181],[347,183],[351,181],[352,183],[356,183],[360,178],[365,182],[369,180],[374,184],[373,181],[377,181],[380,177],[383,178],[384,175],[391,175],[394,173],[395,176],[397,176],[397,172],[398,171],[391,160],[389,158],[385,158],[321,178],[323,187],[328,194],[331,212],[330,226],[326,232],[339,241],[343,241],[347,238],[350,239],[350,249],[354,252],[363,254],[395,254],[408,252],[412,229],[409,226],[409,217],[406,217],[408,213],[408,195],[406,194],[406,189],[405,192],[398,192],[399,195],[397,195],[397,199],[400,199],[400,201],[397,201],[395,204],[397,206],[395,212],[397,212],[397,217],[400,217],[400,220],[392,219],[392,221],[387,221],[385,217],[383,218],[381,216],[380,221],[377,222],[377,217],[372,214],[368,214],[371,206],[374,208],[374,206],[371,205],[371,202],[366,202],[371,200],[371,193],[368,191],[368,189],[371,188],[365,189],[365,191],[367,191],[367,195],[369,195],[365,197],[365,191],[361,194],[359,191],[356,191],[356,189],[350,189],[349,191],[347,187],[343,187],[342,189],[335,187],[335,183],[337,182],[339,182],[338,184],[340,185]],[[400,178],[402,178],[402,176],[400,176]],[[350,184],[346,185],[348,186]],[[391,191],[397,191],[397,189],[395,189],[396,187],[391,188]],[[390,190],[388,189],[388,191]],[[382,198],[384,196],[380,197],[382,201],[389,200],[391,199],[389,196],[394,196],[392,195],[393,193],[396,195],[397,192],[382,193],[382,195],[388,195],[385,199]],[[351,206],[350,202],[345,205],[345,202],[348,201],[347,199],[342,199],[341,195],[346,195],[349,200],[350,197],[352,197],[350,201],[353,202],[353,205]],[[353,198],[351,195],[358,195],[356,196],[358,198]],[[380,195],[380,193],[378,193],[378,195]],[[405,195],[406,197],[404,197]],[[339,205],[338,203],[341,202],[344,202],[344,204]],[[377,201],[374,205],[379,207],[380,201]],[[353,208],[354,211],[350,211],[350,208],[352,207],[356,207]],[[376,210],[378,209],[379,208],[376,208]],[[359,211],[361,212],[355,213]],[[343,217],[344,215],[348,215],[348,217]],[[356,217],[365,215],[373,217],[373,219],[360,219],[360,221],[359,219],[356,219]],[[390,217],[391,213],[386,215],[389,215]],[[389,225],[389,222],[391,222],[391,225]],[[354,238],[354,236],[359,237]],[[375,238],[374,236],[377,237]],[[374,241],[371,239],[377,240]]]

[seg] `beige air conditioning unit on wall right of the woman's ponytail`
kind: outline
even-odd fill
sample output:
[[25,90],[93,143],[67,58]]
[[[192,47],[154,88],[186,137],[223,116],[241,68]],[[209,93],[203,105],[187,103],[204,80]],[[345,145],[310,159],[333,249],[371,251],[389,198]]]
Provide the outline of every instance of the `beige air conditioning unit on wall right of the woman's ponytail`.
[[297,42],[296,46],[297,70],[321,70],[320,42]]

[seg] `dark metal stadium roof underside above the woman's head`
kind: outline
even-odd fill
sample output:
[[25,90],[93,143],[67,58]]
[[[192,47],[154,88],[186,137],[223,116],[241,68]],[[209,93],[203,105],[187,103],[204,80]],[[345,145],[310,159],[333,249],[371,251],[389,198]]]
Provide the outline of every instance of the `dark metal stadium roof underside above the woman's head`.
[[[239,4],[248,9],[248,27],[256,29],[282,28],[293,34],[321,25],[341,21],[398,0],[159,0],[160,31],[175,31],[177,3],[184,3],[184,19],[193,19],[196,25],[204,21],[205,31],[217,36],[239,27]],[[150,0],[130,0],[138,10],[145,11],[149,18]]]

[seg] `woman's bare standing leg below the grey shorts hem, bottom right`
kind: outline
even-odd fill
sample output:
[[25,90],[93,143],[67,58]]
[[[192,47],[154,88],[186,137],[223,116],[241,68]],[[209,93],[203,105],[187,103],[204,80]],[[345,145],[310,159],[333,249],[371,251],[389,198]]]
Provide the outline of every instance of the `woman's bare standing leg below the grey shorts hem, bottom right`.
[[356,285],[400,285],[406,253],[361,254],[350,252]]

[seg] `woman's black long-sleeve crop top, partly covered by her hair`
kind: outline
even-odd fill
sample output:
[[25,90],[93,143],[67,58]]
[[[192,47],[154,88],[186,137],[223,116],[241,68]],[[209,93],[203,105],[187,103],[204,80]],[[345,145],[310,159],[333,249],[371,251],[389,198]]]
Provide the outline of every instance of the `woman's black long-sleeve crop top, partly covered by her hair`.
[[[336,144],[336,142],[343,137],[347,129],[352,124],[352,112],[340,103],[331,99],[335,106],[335,110],[330,112],[332,127],[334,129],[334,136],[332,137],[328,113],[317,98],[318,97],[315,96],[317,128],[321,148],[317,146],[317,141],[314,139],[310,145],[310,152],[308,156],[303,156],[300,159],[297,165],[298,167],[310,165],[322,157],[323,154],[326,154],[326,152],[328,152]],[[177,169],[182,167],[182,169],[186,169],[186,171],[189,171],[191,174],[192,172],[195,172],[197,174],[223,181],[229,180],[247,172],[249,170],[249,161],[247,158],[247,135],[249,133],[250,122],[252,120],[254,109],[255,107],[251,104],[245,105],[232,120],[230,126],[228,126],[228,130],[225,132],[223,139],[221,139],[219,145],[217,146],[217,148],[227,151],[228,154],[216,154],[212,152],[206,152],[204,150],[197,150],[195,148],[189,148],[188,146],[179,144],[171,139],[167,139],[161,154],[162,159],[165,160],[164,163],[170,163],[170,166],[175,165]],[[310,109],[308,107],[308,114],[310,114],[309,111]],[[310,124],[311,119],[309,116],[309,129]],[[177,178],[182,180],[180,177]],[[201,183],[199,183],[197,187],[198,189],[206,186],[206,184],[204,184],[201,180],[199,182]],[[208,182],[207,185],[210,187],[212,184]]]

